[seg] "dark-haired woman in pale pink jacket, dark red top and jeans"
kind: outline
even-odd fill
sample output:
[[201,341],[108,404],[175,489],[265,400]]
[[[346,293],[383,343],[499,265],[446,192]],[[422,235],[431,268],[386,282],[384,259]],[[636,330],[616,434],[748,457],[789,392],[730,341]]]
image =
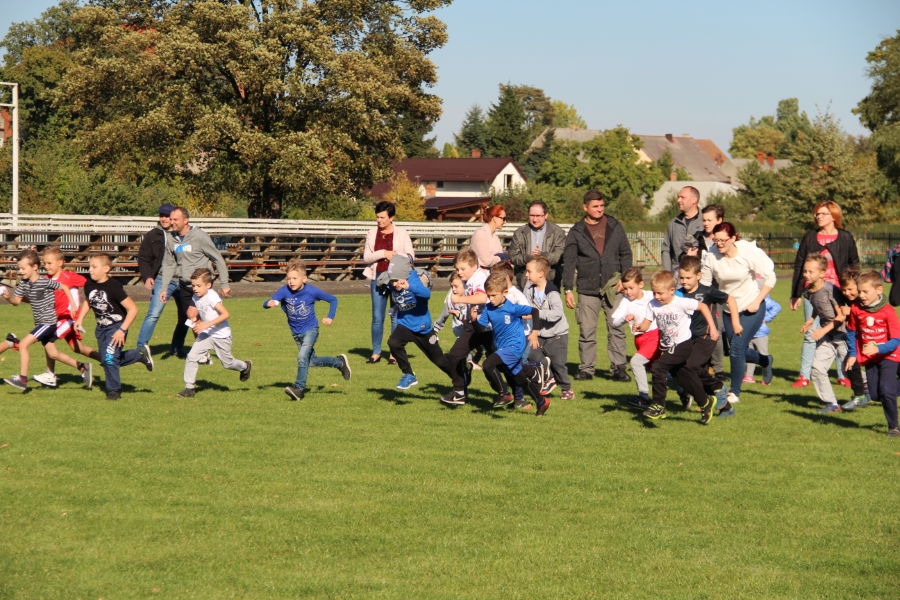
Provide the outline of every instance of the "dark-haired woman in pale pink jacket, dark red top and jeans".
[[[370,292],[372,295],[372,355],[366,360],[373,364],[381,360],[381,342],[384,339],[384,317],[387,312],[390,292],[387,289],[379,289],[377,279],[390,265],[391,258],[395,254],[415,258],[412,240],[402,227],[394,226],[394,215],[397,208],[391,202],[379,202],[375,205],[375,227],[366,233],[366,247],[363,252],[363,260],[366,268],[363,275],[371,279]],[[397,324],[391,315],[391,332]],[[391,357],[392,364],[394,358]]]

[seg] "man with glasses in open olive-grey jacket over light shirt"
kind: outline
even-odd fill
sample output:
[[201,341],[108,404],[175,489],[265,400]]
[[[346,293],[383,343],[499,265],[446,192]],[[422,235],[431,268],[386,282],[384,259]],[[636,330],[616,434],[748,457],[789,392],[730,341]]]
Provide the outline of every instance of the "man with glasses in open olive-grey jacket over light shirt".
[[547,280],[559,287],[562,278],[560,261],[566,249],[566,232],[562,227],[547,220],[547,205],[535,200],[528,207],[528,223],[513,233],[509,245],[509,259],[516,269],[519,289],[525,289],[525,265],[533,258],[543,256],[550,263]]

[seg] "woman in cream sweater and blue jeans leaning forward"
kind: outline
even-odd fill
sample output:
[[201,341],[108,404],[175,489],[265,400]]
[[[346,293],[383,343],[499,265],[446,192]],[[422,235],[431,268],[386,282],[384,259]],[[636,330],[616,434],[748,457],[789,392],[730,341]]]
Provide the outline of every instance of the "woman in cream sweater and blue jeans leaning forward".
[[[775,263],[754,242],[740,239],[734,225],[727,221],[713,228],[715,248],[706,253],[700,282],[717,287],[734,298],[738,308],[739,324],[735,327],[732,317],[725,310],[725,335],[731,350],[731,392],[729,402],[735,403],[741,396],[741,383],[747,363],[765,369],[763,381],[772,382],[772,357],[759,354],[750,348],[750,341],[762,326],[766,316],[766,295],[775,287]],[[762,288],[756,276],[762,277]]]

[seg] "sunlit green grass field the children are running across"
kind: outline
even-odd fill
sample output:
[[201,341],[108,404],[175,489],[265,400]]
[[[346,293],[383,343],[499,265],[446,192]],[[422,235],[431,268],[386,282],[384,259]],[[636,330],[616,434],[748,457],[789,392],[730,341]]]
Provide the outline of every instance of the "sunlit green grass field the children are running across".
[[[703,427],[674,395],[645,422],[622,405],[634,384],[605,377],[538,419],[491,409],[476,373],[474,402],[451,410],[415,353],[420,385],[398,392],[396,367],[363,364],[366,296],[341,298],[317,345],[350,356],[352,381],[313,369],[290,402],[284,315],[227,303],[247,383],[216,362],[176,398],[169,308],[157,369],[123,369],[120,402],[65,367],[59,389],[0,387],[0,598],[898,595],[900,443],[880,405],[818,415],[814,391],[790,387],[800,313],[774,323],[774,385]],[[31,326],[27,307],[0,319]],[[2,358],[14,374],[17,354]]]

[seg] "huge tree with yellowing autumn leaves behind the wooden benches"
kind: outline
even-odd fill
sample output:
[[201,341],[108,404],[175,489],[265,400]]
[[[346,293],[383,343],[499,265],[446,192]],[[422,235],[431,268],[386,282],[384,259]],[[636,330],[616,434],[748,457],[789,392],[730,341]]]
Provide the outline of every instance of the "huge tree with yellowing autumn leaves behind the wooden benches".
[[277,218],[359,196],[403,157],[403,119],[436,121],[427,56],[447,34],[425,13],[450,1],[98,0],[73,15],[57,106],[86,164],[180,175]]

